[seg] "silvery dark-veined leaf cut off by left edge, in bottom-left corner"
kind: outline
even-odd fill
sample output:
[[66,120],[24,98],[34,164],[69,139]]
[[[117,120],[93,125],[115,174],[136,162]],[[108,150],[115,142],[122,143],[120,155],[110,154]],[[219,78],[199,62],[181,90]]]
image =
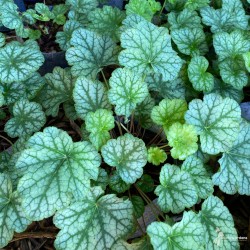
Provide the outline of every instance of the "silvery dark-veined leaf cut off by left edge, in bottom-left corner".
[[25,231],[30,223],[23,213],[18,193],[12,191],[9,176],[0,173],[0,247],[5,247],[14,232]]

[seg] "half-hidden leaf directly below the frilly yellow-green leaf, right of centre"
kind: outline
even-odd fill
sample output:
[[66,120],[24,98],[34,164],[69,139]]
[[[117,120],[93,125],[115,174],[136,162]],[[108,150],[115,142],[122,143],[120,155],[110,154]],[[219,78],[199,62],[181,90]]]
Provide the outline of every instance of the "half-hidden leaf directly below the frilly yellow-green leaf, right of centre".
[[206,199],[212,195],[214,191],[213,182],[201,159],[193,155],[187,157],[181,166],[181,170],[191,175],[199,198]]

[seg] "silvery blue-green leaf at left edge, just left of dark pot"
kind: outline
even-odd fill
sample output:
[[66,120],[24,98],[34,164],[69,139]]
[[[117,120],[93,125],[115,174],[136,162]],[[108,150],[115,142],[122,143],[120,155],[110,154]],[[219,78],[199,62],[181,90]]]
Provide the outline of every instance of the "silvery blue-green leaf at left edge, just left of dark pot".
[[0,81],[7,83],[26,80],[44,62],[38,44],[31,40],[10,42],[0,48],[0,55]]

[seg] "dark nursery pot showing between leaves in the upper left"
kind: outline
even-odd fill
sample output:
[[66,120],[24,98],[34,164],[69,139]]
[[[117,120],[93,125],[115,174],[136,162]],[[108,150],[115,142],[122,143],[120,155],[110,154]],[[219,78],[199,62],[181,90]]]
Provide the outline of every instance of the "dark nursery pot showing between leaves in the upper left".
[[69,66],[65,58],[65,51],[43,53],[43,56],[45,61],[38,70],[42,76],[47,73],[51,73],[56,66],[61,68],[66,68]]

